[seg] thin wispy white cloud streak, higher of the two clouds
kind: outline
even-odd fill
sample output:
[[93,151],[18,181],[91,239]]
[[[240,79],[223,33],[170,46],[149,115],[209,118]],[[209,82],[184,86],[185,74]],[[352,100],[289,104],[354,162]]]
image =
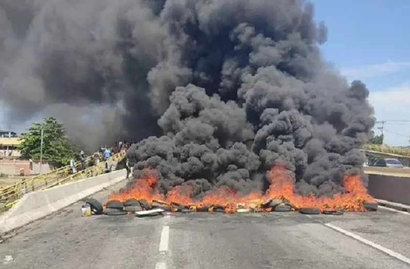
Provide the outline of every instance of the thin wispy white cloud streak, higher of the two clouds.
[[340,72],[349,80],[354,80],[383,76],[406,68],[410,68],[410,61],[386,61],[383,64],[344,68]]

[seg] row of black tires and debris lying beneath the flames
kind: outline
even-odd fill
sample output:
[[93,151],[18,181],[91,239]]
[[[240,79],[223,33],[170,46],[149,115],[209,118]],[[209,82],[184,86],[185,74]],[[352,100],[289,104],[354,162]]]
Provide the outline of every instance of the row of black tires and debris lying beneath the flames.
[[[157,216],[161,215],[161,212],[226,212],[226,208],[223,205],[182,205],[179,203],[172,202],[170,205],[161,201],[153,201],[149,203],[145,199],[128,199],[125,202],[118,200],[110,200],[105,206],[103,206],[96,199],[87,199],[86,203],[90,205],[91,212],[93,215],[109,215],[109,216],[120,216],[128,214],[144,215],[144,216]],[[374,202],[363,202],[363,207],[367,211],[377,211],[378,204]],[[145,212],[146,214],[138,214],[138,212]],[[344,208],[338,209],[319,209],[316,207],[303,207],[298,208],[296,205],[292,204],[286,199],[269,199],[263,202],[261,205],[245,205],[238,203],[236,206],[237,213],[248,213],[248,212],[291,212],[298,211],[305,215],[343,215]]]

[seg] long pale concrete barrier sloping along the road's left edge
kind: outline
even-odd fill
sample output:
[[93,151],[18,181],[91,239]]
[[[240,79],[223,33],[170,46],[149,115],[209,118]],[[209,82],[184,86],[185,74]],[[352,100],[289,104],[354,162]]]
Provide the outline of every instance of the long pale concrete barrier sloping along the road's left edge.
[[0,234],[46,217],[66,206],[125,179],[126,170],[66,183],[23,196],[8,212],[0,216]]

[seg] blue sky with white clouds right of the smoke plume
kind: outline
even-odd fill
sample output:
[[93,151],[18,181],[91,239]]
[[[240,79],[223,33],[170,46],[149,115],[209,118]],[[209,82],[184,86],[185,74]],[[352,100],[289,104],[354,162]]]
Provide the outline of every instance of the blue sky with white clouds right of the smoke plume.
[[377,119],[386,120],[385,143],[410,144],[410,0],[312,2],[316,19],[329,29],[324,58],[350,80],[366,83]]

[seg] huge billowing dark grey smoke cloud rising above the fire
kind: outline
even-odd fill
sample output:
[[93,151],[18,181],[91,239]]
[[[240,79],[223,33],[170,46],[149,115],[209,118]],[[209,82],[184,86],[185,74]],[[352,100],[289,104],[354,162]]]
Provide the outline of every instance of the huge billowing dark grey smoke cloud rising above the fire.
[[375,120],[365,85],[322,59],[313,14],[301,0],[3,0],[0,98],[12,122],[46,108],[89,146],[150,136],[127,156],[164,193],[263,190],[278,163],[299,193],[340,192]]

